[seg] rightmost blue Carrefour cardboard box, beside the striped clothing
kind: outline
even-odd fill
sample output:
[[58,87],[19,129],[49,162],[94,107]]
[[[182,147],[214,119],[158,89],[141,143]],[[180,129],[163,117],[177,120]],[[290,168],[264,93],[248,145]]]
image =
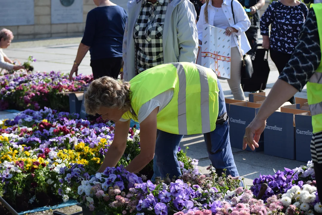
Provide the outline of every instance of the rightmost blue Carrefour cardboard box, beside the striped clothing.
[[311,160],[311,140],[313,128],[312,117],[308,114],[295,114],[295,148],[296,160],[308,162]]

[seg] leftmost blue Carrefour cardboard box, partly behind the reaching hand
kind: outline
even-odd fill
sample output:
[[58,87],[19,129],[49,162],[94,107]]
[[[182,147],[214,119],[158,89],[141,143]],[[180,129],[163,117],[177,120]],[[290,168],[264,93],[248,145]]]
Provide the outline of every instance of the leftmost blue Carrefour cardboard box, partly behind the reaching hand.
[[[230,119],[229,119],[229,136],[231,146],[234,148],[242,149],[243,137],[245,135],[245,129],[254,119],[261,104],[251,102],[241,102],[230,104]],[[247,151],[252,151],[247,146]],[[260,137],[259,148],[255,148],[255,152],[263,151],[263,135]]]

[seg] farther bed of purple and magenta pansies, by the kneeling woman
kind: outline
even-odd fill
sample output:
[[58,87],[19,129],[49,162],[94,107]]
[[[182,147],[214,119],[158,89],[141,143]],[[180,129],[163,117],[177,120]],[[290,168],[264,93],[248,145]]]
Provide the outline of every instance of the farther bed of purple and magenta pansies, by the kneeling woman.
[[68,95],[59,93],[84,91],[92,80],[92,75],[81,74],[70,81],[61,72],[15,71],[0,76],[0,110],[40,110],[46,106],[68,111]]

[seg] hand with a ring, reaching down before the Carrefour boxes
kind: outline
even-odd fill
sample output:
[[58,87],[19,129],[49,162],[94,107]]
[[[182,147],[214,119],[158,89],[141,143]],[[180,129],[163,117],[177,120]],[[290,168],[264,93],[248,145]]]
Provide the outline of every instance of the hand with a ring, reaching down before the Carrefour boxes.
[[247,126],[242,149],[245,150],[247,145],[251,150],[255,150],[255,147],[258,148],[258,142],[260,140],[260,135],[263,133],[266,125],[266,120],[259,119],[257,117]]

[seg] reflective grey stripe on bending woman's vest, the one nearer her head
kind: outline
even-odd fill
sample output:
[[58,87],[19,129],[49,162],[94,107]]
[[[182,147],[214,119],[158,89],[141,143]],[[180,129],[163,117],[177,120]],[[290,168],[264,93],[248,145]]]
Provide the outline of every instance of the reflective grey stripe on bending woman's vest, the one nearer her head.
[[187,131],[187,117],[186,117],[186,105],[185,105],[185,69],[181,63],[173,63],[173,66],[177,69],[179,77],[179,93],[178,93],[178,127],[179,134],[188,134]]

